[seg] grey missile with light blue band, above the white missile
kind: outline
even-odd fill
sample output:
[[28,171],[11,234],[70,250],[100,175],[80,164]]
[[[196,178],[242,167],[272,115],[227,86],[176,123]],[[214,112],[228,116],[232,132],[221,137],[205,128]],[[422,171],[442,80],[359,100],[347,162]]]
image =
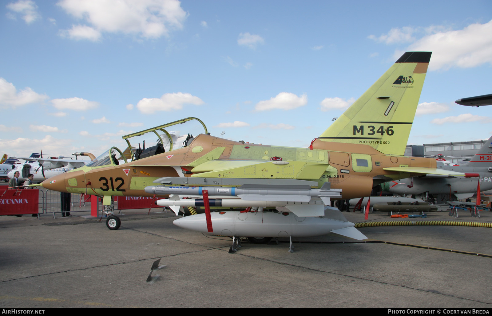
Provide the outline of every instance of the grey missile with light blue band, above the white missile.
[[321,189],[311,189],[310,186],[305,185],[251,184],[242,185],[238,188],[169,186],[149,186],[145,188],[147,193],[156,195],[203,195],[203,190],[208,190],[209,195],[212,196],[239,196],[246,201],[308,202],[311,197],[319,197],[325,202],[325,205],[329,205],[330,198],[341,197],[341,189],[331,189],[329,182],[325,182]]

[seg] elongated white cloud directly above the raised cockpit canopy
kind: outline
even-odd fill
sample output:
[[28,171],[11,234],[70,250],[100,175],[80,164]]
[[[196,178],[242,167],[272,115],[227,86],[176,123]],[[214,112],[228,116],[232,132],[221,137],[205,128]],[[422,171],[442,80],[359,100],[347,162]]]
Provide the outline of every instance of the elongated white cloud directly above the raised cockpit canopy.
[[144,97],[137,103],[137,109],[144,114],[153,114],[155,111],[181,110],[184,104],[201,105],[204,102],[198,96],[189,93],[168,93],[160,98]]

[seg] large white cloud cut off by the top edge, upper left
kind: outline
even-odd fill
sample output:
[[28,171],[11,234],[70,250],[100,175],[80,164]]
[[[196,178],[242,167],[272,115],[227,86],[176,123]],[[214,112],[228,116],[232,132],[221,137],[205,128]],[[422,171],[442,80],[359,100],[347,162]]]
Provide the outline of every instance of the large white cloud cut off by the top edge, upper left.
[[168,36],[171,30],[182,29],[187,17],[178,0],[61,0],[58,5],[95,32],[143,38]]

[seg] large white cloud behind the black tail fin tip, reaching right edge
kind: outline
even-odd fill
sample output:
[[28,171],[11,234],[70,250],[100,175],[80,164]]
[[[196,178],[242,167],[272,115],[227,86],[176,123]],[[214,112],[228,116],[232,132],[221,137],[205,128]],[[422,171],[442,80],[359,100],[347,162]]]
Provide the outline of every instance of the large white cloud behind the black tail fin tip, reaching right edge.
[[408,50],[431,51],[431,70],[492,64],[491,34],[492,20],[471,24],[460,31],[436,32],[411,44]]

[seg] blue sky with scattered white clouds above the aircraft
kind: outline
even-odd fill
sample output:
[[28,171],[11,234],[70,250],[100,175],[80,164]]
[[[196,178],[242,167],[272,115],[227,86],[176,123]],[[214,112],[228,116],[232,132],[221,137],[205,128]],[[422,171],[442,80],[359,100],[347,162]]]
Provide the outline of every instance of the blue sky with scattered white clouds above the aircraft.
[[432,51],[408,144],[492,133],[492,106],[454,103],[492,93],[490,0],[0,3],[0,155],[123,151],[186,117],[307,147],[405,51]]

